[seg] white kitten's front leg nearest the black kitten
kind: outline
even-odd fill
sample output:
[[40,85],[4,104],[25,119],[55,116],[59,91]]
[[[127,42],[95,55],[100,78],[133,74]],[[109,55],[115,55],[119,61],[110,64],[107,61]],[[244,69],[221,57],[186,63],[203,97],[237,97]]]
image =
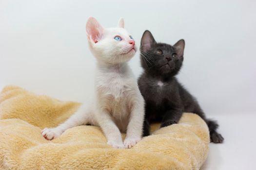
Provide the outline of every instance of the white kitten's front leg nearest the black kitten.
[[142,136],[143,120],[144,99],[142,96],[139,96],[138,100],[135,100],[132,106],[130,121],[127,127],[126,137],[124,140],[125,148],[132,148],[140,141]]

